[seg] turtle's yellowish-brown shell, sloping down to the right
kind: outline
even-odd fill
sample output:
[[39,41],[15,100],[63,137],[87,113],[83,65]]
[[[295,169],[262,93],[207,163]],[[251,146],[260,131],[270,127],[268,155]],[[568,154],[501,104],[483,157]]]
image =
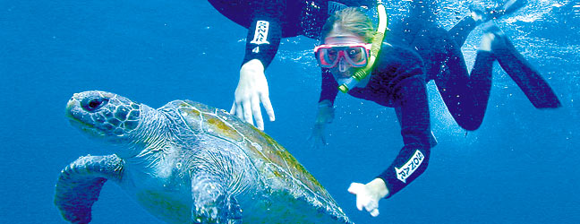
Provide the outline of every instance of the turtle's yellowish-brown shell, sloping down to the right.
[[303,166],[294,159],[284,147],[268,134],[260,131],[223,109],[212,108],[191,100],[174,102],[178,113],[192,130],[201,134],[210,134],[226,141],[240,145],[247,155],[256,157],[266,166],[262,175],[274,176],[285,185],[289,194],[303,198],[311,204],[317,204],[330,210],[340,210],[337,202],[328,194],[322,185],[312,177]]

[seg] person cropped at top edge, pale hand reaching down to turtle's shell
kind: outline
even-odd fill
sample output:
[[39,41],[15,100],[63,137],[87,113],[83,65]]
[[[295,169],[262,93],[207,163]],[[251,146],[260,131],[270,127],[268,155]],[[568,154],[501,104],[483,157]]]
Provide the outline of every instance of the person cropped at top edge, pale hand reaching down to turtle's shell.
[[328,14],[366,0],[209,0],[219,13],[248,29],[245,56],[230,113],[264,130],[260,103],[270,121],[276,116],[269,99],[265,70],[276,56],[280,39],[299,35],[318,39]]

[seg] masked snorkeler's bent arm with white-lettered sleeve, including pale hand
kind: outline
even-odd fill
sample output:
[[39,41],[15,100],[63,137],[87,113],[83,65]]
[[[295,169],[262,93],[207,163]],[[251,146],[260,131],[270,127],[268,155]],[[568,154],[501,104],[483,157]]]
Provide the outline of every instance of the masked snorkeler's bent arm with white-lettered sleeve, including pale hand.
[[[421,69],[411,69],[421,73]],[[356,194],[356,206],[371,216],[379,215],[380,198],[391,197],[419,177],[427,168],[431,152],[429,105],[424,79],[406,78],[395,87],[400,100],[401,134],[405,146],[380,176],[366,185],[353,183],[348,191]]]

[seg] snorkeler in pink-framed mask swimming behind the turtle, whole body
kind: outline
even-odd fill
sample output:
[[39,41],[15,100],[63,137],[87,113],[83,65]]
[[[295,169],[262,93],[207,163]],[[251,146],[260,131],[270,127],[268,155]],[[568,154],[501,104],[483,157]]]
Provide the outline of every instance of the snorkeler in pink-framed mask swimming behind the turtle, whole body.
[[[328,19],[321,34],[322,45],[314,49],[319,65],[327,70],[322,77],[313,138],[323,142],[324,126],[332,122],[334,99],[338,90],[342,90],[356,98],[396,108],[405,143],[397,159],[382,174],[366,185],[351,185],[349,192],[356,194],[359,210],[364,208],[371,215],[378,215],[380,198],[396,194],[427,167],[430,149],[436,143],[430,138],[426,96],[423,99],[424,83],[429,80],[435,80],[457,124],[467,130],[475,130],[482,123],[490,96],[491,68],[495,60],[524,90],[536,108],[559,107],[559,99],[550,86],[495,26],[487,29],[472,73],[467,72],[460,49],[466,36],[477,24],[499,15],[495,13],[496,16],[492,17],[490,12],[506,14],[514,11],[514,8],[506,5],[497,11],[487,11],[487,14],[475,12],[450,31],[435,26],[431,15],[411,16],[403,22],[406,25],[404,28],[395,26],[393,29],[401,33],[388,33],[388,39],[398,41],[383,43],[374,65],[369,39],[373,34],[372,26],[362,22],[368,18],[360,19],[362,13],[354,13],[356,10],[349,9]],[[517,4],[512,1],[511,5]],[[417,21],[419,19],[422,21]],[[409,60],[413,56],[397,56],[405,52],[397,44],[414,49],[421,56],[425,63],[424,73],[412,72],[422,70],[419,66],[421,60]],[[423,79],[423,85],[412,82],[413,78]]]

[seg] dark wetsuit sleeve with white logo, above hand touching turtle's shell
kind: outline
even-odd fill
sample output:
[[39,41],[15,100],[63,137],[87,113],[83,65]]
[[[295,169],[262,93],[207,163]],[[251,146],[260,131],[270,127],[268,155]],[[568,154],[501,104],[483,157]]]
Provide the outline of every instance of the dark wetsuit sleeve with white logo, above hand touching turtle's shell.
[[255,1],[252,3],[254,13],[246,37],[243,64],[258,59],[268,68],[282,38],[282,25],[285,5],[283,1]]

